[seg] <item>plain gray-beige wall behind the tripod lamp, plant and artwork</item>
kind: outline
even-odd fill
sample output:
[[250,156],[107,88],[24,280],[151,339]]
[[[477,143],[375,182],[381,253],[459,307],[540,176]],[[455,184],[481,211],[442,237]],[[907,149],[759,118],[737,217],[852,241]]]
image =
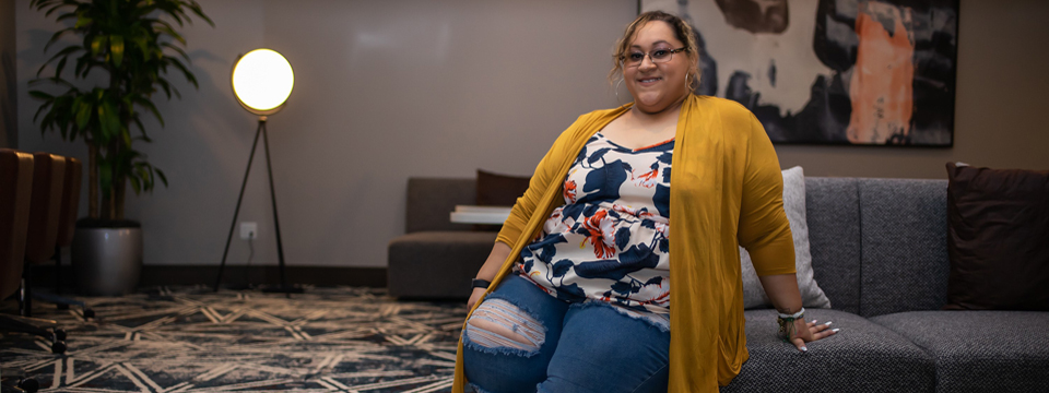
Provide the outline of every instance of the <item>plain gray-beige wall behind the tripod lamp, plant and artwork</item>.
[[[143,147],[170,188],[132,198],[148,264],[217,264],[247,163],[255,118],[228,75],[237,53],[283,52],[296,71],[287,107],[269,121],[287,262],[382,266],[403,233],[410,176],[529,174],[579,114],[614,106],[604,75],[634,0],[203,0],[215,28],[186,28],[200,90],[158,106]],[[85,157],[42,138],[26,83],[57,26],[16,1],[20,143]],[[2,13],[0,13],[2,16]],[[943,178],[944,163],[1049,169],[1041,115],[1049,58],[1042,1],[962,2],[955,147],[778,146],[809,175]],[[261,154],[261,151],[259,152]],[[256,157],[239,221],[259,223],[252,265],[276,263],[264,163]],[[86,188],[85,188],[86,189]],[[81,206],[86,206],[82,202]],[[229,263],[248,261],[234,239]],[[211,277],[202,277],[209,282]]]

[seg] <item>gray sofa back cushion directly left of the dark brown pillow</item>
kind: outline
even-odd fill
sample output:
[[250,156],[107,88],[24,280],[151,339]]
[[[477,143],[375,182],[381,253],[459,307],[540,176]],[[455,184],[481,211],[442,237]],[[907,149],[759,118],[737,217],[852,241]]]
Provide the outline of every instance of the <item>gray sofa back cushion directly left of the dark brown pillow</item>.
[[936,310],[947,300],[947,182],[858,179],[860,314]]

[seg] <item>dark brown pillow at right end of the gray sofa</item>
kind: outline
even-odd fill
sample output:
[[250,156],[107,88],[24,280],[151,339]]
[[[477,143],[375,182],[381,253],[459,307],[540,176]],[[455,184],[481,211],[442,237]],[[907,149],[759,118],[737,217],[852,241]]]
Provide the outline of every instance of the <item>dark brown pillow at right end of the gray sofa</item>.
[[1049,310],[1049,170],[947,164],[945,309]]

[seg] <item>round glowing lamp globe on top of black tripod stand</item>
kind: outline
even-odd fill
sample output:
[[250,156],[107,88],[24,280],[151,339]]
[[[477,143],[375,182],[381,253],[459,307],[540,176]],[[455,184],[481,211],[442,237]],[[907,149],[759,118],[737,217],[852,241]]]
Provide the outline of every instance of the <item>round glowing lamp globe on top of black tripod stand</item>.
[[255,49],[233,66],[233,92],[248,111],[272,115],[292,94],[295,75],[292,64],[271,49]]

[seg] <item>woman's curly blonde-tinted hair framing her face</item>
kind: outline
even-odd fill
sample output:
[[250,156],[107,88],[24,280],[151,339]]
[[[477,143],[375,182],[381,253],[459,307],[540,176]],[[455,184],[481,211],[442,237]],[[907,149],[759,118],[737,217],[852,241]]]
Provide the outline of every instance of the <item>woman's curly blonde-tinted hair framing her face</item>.
[[699,45],[696,43],[695,32],[687,22],[677,15],[663,11],[648,11],[637,15],[637,19],[626,26],[623,36],[615,43],[615,52],[612,55],[612,71],[609,72],[609,83],[614,85],[615,82],[623,76],[623,60],[626,59],[626,51],[630,47],[630,41],[634,40],[634,36],[637,35],[638,28],[652,21],[661,21],[669,24],[674,31],[674,36],[677,40],[685,44],[685,56],[689,62],[685,81],[688,84],[689,91],[695,91],[699,87],[699,78],[702,76],[699,73]]

